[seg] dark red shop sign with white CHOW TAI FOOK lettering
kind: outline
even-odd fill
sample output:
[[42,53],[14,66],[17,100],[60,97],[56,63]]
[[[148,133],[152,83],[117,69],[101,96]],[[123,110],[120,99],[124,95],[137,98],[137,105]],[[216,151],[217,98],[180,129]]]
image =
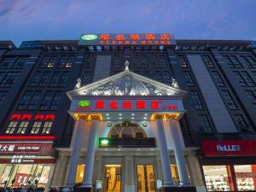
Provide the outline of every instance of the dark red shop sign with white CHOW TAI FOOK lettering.
[[52,143],[0,143],[0,154],[47,154]]

